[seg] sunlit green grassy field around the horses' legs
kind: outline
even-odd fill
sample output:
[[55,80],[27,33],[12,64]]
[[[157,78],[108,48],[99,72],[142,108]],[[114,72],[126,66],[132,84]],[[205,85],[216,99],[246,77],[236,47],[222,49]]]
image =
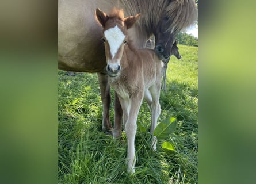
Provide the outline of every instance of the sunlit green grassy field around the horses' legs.
[[[178,47],[182,58],[172,56],[169,62],[167,93],[161,92],[158,119],[177,118],[177,128],[166,139],[175,151],[161,148],[160,142],[152,151],[150,133],[138,128],[133,175],[125,168],[126,144],[113,141],[101,131],[97,75],[68,76],[59,71],[59,183],[198,183],[197,47]],[[110,116],[113,122],[113,102]],[[138,122],[150,129],[146,102],[140,108]]]

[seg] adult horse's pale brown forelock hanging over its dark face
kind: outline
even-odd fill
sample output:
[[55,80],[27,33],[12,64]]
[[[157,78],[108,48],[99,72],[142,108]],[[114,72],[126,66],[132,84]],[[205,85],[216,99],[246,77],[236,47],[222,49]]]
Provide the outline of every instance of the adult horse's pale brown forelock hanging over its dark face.
[[184,28],[188,28],[197,20],[197,7],[194,0],[176,0],[166,8],[170,17],[171,33],[177,34]]

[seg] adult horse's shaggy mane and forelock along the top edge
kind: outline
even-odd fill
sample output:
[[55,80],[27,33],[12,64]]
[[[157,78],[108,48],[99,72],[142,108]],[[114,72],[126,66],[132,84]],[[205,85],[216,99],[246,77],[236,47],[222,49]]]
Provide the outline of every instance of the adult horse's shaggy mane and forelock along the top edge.
[[167,31],[171,31],[173,34],[177,34],[182,29],[192,25],[197,19],[196,5],[192,0],[123,0],[122,2],[131,14],[142,13],[141,20],[138,21],[140,27],[151,28],[152,22],[157,25],[161,19],[161,14],[156,12],[162,11],[166,11],[167,18],[171,22]]

